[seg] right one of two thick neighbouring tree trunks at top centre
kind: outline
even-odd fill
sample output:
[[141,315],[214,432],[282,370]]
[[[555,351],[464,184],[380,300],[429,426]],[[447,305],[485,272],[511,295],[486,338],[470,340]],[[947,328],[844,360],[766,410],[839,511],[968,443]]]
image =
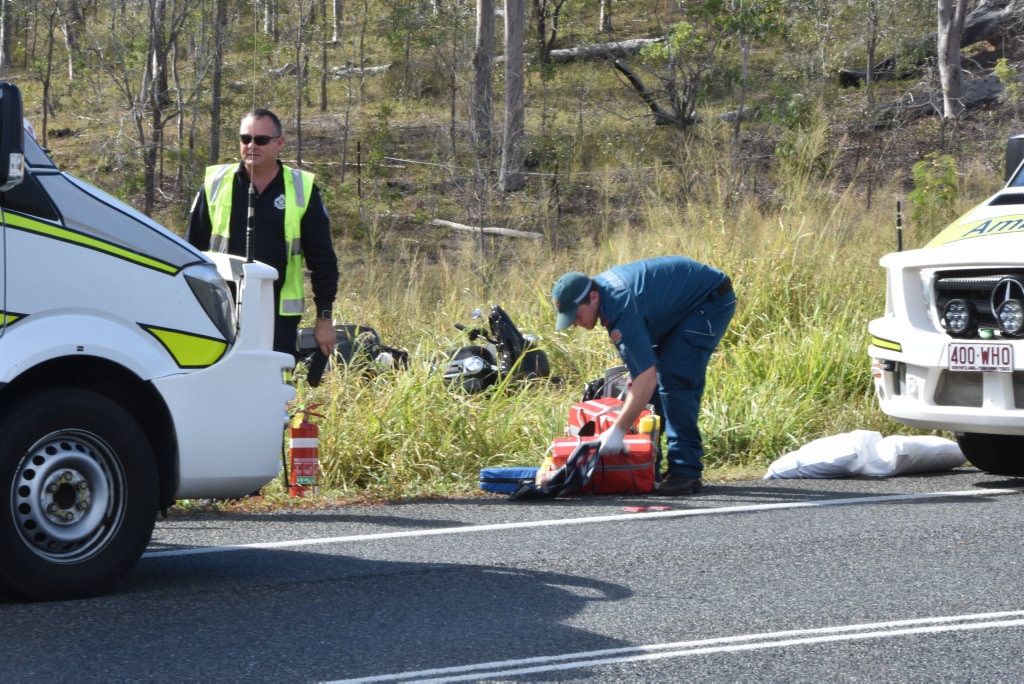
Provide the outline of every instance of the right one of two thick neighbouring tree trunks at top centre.
[[505,2],[505,140],[502,143],[502,170],[498,185],[503,193],[520,190],[526,184],[525,154],[525,75],[523,39],[526,35],[524,0]]

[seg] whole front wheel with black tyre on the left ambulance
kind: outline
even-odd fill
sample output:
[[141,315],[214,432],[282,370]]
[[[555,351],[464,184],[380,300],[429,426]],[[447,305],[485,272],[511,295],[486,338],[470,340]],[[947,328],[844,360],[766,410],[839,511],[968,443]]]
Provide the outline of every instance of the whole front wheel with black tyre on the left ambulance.
[[156,523],[153,448],[128,412],[83,389],[42,391],[0,420],[0,579],[26,597],[108,591]]

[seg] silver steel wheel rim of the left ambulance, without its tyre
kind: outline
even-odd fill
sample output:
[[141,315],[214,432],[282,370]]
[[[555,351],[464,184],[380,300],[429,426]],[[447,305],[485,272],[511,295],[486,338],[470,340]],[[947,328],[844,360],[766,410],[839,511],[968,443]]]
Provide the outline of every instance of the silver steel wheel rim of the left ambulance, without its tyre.
[[115,536],[125,475],[98,436],[61,430],[37,441],[18,464],[11,491],[17,533],[26,548],[56,563],[81,562]]

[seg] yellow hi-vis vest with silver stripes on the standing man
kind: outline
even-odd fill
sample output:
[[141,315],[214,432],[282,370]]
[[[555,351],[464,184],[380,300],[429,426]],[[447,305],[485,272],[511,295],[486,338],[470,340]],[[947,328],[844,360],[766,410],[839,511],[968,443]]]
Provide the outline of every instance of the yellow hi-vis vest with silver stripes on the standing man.
[[[210,250],[227,252],[231,234],[231,174],[238,164],[220,164],[206,169],[206,203],[210,208]],[[281,287],[281,315],[302,315],[305,310],[302,285],[302,216],[313,194],[313,174],[291,167],[285,169],[285,249],[288,264]],[[225,183],[224,181],[227,180]]]

